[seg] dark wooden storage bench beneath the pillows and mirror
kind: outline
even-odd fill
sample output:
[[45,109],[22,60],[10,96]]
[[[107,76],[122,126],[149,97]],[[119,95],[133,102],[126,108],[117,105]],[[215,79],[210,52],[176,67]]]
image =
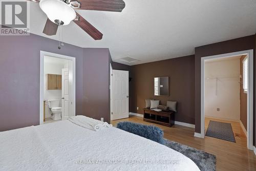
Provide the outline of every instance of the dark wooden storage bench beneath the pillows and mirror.
[[154,111],[144,108],[143,121],[154,122],[165,126],[173,126],[175,121],[174,111]]

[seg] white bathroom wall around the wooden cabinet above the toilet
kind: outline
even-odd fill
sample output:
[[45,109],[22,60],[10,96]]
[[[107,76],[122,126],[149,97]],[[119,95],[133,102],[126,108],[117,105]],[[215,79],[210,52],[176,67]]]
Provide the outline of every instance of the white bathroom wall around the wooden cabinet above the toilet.
[[[59,59],[56,57],[45,56],[44,63],[44,100],[61,99],[61,90],[47,90],[46,89],[46,74],[62,74],[62,68],[68,68],[68,60]],[[61,103],[60,103],[61,106]],[[51,116],[48,104],[45,106],[45,117]]]

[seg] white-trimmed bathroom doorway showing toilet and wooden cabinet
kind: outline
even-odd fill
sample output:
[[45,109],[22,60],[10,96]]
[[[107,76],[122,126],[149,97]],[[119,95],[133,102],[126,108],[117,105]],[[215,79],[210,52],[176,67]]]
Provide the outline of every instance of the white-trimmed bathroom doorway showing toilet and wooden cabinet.
[[40,124],[75,115],[75,58],[40,51]]

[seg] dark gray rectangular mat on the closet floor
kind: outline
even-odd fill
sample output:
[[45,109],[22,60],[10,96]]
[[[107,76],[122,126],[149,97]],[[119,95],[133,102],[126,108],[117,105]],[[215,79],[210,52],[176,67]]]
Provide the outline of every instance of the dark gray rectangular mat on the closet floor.
[[210,120],[205,136],[236,142],[230,123]]

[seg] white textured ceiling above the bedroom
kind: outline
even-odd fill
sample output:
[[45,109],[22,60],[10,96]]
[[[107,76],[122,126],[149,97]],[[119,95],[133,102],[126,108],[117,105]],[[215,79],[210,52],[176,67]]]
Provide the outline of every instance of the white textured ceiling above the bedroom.
[[[71,23],[63,41],[84,48],[109,48],[112,59],[139,59],[133,65],[194,54],[194,48],[256,32],[255,0],[124,0],[121,13],[77,10],[103,33],[95,41]],[[31,33],[42,33],[46,15],[30,3]],[[61,29],[59,29],[61,30]],[[131,65],[131,63],[127,63]]]

